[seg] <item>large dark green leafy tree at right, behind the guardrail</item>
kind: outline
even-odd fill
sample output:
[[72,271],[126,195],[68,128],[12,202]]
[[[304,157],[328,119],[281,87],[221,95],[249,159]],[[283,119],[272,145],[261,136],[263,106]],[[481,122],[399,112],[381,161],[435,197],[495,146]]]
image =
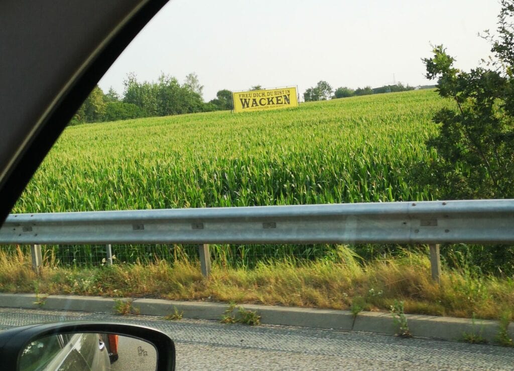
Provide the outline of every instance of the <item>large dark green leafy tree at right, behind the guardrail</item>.
[[[418,171],[436,197],[514,197],[514,0],[501,0],[499,38],[486,31],[493,55],[464,72],[442,45],[424,58],[426,77],[454,106],[434,116],[438,134],[427,141],[437,157]],[[425,177],[423,176],[425,174]]]

